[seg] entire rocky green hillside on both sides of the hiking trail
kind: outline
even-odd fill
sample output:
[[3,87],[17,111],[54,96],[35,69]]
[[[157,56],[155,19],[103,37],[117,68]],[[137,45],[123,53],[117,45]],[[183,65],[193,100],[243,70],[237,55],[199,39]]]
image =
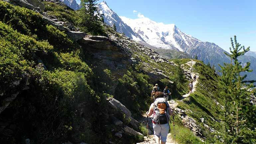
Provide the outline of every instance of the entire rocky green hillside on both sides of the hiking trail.
[[[95,3],[74,11],[55,0],[6,1],[0,1],[1,143],[142,142],[141,118],[156,83],[168,86],[178,104],[178,143],[224,141],[224,95],[209,66],[166,59],[116,32],[94,15]],[[197,88],[184,98],[192,73]],[[186,115],[196,126],[186,127]]]

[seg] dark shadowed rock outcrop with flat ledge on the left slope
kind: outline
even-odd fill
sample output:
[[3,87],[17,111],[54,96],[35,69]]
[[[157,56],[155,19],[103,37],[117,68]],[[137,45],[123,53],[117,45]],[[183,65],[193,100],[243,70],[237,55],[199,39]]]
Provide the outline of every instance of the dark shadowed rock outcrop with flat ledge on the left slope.
[[119,46],[113,40],[105,36],[85,36],[78,40],[78,43],[88,53],[88,61],[102,69],[109,69],[117,76],[121,77],[126,73],[127,66],[132,63],[130,54],[124,47]]

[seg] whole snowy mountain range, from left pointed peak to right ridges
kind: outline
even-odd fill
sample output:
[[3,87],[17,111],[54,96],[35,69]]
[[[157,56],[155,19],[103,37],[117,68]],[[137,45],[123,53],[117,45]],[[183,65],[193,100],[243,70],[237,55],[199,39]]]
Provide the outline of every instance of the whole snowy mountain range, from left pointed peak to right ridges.
[[[126,17],[118,16],[112,11],[106,2],[98,4],[100,13],[104,16],[104,22],[113,26],[116,25],[119,33],[125,33],[126,36],[132,38],[135,41],[139,41],[150,48],[164,48],[183,51],[188,53],[191,57],[197,56],[199,60],[202,60],[205,64],[208,62],[216,67],[216,70],[220,70],[218,64],[230,63],[230,59],[224,54],[226,52],[215,43],[203,42],[191,35],[182,32],[175,24],[163,24],[157,23],[149,18],[141,17],[138,19],[129,19]],[[161,50],[164,51],[164,50]],[[255,52],[248,52],[247,55],[242,56],[240,61],[245,63],[246,61],[253,61],[255,64]],[[248,59],[249,57],[250,59]],[[252,66],[253,73],[248,74],[248,80],[256,75],[256,67]]]

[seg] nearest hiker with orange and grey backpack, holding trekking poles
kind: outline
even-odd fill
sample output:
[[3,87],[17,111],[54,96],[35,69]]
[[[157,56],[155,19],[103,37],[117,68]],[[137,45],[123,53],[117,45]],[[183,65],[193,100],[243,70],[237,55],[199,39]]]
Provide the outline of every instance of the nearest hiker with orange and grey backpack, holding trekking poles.
[[169,132],[169,119],[170,115],[173,115],[173,110],[169,104],[165,101],[164,94],[162,92],[156,92],[156,101],[150,105],[149,111],[146,112],[147,116],[152,114],[152,122],[154,135],[157,144],[166,143],[167,134]]

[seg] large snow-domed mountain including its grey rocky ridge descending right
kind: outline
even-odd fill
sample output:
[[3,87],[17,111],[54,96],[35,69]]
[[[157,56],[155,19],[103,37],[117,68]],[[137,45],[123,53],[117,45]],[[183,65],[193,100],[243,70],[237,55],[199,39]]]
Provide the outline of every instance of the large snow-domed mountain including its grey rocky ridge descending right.
[[178,49],[187,52],[192,57],[209,62],[211,65],[228,62],[224,50],[215,43],[203,42],[182,32],[174,24],[165,25],[149,18],[129,19],[120,17],[135,33],[138,33],[148,44],[164,49]]

